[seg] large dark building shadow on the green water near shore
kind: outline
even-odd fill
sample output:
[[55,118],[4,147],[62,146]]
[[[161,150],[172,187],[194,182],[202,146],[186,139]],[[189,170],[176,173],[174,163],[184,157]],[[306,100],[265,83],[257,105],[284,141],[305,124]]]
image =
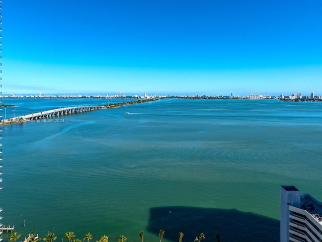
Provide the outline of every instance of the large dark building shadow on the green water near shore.
[[206,241],[280,241],[280,221],[254,213],[235,209],[211,209],[196,207],[150,208],[148,230],[158,233],[165,230],[165,238],[178,241],[183,232],[183,242],[193,242],[201,232]]

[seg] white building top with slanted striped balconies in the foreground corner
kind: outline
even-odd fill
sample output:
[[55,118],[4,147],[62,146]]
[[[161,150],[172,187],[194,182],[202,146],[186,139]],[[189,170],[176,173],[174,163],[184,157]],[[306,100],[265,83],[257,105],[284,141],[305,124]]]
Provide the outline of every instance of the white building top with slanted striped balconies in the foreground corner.
[[322,241],[322,203],[294,186],[280,191],[280,242]]

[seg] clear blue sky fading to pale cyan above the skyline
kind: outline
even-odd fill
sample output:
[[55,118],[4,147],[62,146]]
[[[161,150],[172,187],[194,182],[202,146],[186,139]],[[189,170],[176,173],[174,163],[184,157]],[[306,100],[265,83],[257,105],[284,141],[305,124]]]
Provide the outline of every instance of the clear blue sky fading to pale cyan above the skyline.
[[322,95],[321,0],[3,0],[4,94]]

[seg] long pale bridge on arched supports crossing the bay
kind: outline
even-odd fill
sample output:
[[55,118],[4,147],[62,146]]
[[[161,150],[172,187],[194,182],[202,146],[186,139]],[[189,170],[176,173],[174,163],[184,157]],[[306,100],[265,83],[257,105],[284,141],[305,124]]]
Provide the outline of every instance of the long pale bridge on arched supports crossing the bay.
[[23,116],[18,116],[15,118],[5,119],[3,123],[7,123],[7,122],[20,123],[20,122],[26,122],[26,121],[31,121],[31,120],[41,119],[41,118],[59,117],[60,115],[71,114],[71,113],[94,111],[102,108],[104,108],[104,106],[62,107],[62,108],[56,108],[56,109],[51,109],[47,111],[27,114]]

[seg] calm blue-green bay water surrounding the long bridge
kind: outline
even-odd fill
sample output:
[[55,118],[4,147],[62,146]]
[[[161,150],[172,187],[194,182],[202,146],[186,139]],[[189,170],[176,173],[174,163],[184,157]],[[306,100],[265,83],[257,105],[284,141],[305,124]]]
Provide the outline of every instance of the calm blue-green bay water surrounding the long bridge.
[[[108,102],[4,99],[18,107],[3,116]],[[279,241],[280,185],[322,200],[322,103],[164,99],[62,118],[3,127],[2,223],[22,238]]]

